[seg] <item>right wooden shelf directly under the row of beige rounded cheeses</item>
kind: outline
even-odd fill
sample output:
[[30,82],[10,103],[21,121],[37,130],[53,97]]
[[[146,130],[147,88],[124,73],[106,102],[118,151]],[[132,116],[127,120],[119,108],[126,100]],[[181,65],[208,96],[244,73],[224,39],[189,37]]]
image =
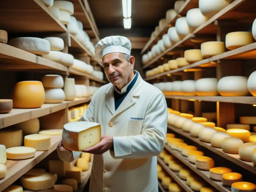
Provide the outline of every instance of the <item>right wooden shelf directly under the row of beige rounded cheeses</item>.
[[168,125],[167,127],[168,127],[168,129],[187,137],[191,141],[194,141],[195,143],[207,148],[208,150],[216,153],[217,155],[224,157],[228,161],[231,161],[231,162],[237,164],[238,166],[240,166],[244,169],[247,169],[248,171],[256,174],[256,167],[253,166],[253,163],[240,160],[240,157],[238,154],[225,153],[221,150],[221,148],[212,147],[210,143],[202,142],[199,140],[199,138],[196,138],[196,137],[191,137],[189,133],[183,132],[182,129],[176,129],[175,127],[173,127],[171,125]]

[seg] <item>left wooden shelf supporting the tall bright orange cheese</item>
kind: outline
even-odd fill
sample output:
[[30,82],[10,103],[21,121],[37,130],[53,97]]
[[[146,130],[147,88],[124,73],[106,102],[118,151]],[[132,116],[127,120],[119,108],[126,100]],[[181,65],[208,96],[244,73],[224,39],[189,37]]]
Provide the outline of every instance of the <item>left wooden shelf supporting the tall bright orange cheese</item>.
[[0,114],[0,129],[8,127],[29,119],[38,118],[66,109],[70,106],[89,102],[91,98],[76,98],[74,101],[63,101],[57,104],[43,104],[36,109],[13,109],[10,113]]

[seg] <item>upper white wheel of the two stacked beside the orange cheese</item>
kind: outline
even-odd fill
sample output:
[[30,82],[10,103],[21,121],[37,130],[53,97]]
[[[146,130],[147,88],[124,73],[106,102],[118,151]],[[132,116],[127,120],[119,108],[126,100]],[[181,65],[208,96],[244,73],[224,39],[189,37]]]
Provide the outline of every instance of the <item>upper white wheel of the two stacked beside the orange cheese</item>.
[[45,75],[42,78],[44,88],[63,88],[64,80],[60,75]]

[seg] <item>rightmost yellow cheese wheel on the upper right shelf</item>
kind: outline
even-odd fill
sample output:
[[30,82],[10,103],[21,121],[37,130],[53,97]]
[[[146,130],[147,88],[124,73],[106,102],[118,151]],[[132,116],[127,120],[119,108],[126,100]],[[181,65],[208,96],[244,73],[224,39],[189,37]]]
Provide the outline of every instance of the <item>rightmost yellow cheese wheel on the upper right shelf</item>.
[[226,35],[226,47],[227,49],[233,50],[245,45],[253,43],[252,33],[247,31],[237,31],[228,33]]

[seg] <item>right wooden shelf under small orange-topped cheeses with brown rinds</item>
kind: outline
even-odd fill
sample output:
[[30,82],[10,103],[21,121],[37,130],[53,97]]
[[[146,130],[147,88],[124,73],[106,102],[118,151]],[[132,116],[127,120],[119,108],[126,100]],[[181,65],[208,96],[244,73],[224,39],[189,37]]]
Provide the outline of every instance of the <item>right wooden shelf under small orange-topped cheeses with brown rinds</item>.
[[169,146],[165,145],[164,148],[172,154],[174,157],[179,159],[182,163],[187,165],[191,170],[193,170],[196,174],[201,176],[206,182],[208,182],[210,185],[215,187],[218,191],[221,192],[230,192],[231,187],[225,187],[222,185],[222,182],[214,181],[210,179],[210,173],[209,171],[199,170],[196,168],[196,165],[189,163],[187,157],[184,157],[181,152],[172,150]]

